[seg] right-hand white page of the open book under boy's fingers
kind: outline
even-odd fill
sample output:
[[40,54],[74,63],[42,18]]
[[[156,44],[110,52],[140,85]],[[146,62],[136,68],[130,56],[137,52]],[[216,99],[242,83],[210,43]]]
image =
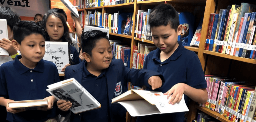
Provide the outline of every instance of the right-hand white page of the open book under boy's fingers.
[[167,99],[167,95],[157,97],[156,107],[159,109],[161,114],[189,111],[184,100],[184,94],[182,95],[180,102],[175,103],[174,105],[168,103],[169,100]]

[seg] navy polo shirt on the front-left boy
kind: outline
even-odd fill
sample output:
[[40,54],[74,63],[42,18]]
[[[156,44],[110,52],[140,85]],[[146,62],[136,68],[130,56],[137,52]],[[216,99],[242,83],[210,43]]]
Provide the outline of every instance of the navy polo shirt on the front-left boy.
[[[0,97],[14,101],[44,99],[51,96],[46,91],[47,86],[59,82],[59,74],[54,63],[40,60],[34,69],[24,66],[17,55],[14,61],[6,62],[0,66]],[[12,114],[7,113],[7,121],[44,122],[57,116],[57,105],[51,110],[27,110]]]

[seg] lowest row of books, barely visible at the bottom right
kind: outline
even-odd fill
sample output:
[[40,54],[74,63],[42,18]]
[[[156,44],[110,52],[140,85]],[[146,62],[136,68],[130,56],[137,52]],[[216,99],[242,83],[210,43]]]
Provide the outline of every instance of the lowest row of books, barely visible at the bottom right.
[[205,114],[204,112],[198,112],[197,119],[192,122],[220,122],[219,120]]

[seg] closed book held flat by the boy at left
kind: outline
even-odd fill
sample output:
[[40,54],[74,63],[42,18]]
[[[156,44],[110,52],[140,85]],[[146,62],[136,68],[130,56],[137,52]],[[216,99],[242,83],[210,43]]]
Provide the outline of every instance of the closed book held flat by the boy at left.
[[39,107],[47,107],[47,106],[48,106],[47,99],[8,102],[8,107],[12,109],[34,110]]

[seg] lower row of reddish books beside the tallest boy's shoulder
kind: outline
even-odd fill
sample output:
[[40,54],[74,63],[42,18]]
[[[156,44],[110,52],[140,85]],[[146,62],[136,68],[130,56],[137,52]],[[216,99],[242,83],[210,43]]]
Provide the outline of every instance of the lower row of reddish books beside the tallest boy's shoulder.
[[152,44],[140,44],[133,46],[132,68],[142,69],[146,56],[157,47]]

